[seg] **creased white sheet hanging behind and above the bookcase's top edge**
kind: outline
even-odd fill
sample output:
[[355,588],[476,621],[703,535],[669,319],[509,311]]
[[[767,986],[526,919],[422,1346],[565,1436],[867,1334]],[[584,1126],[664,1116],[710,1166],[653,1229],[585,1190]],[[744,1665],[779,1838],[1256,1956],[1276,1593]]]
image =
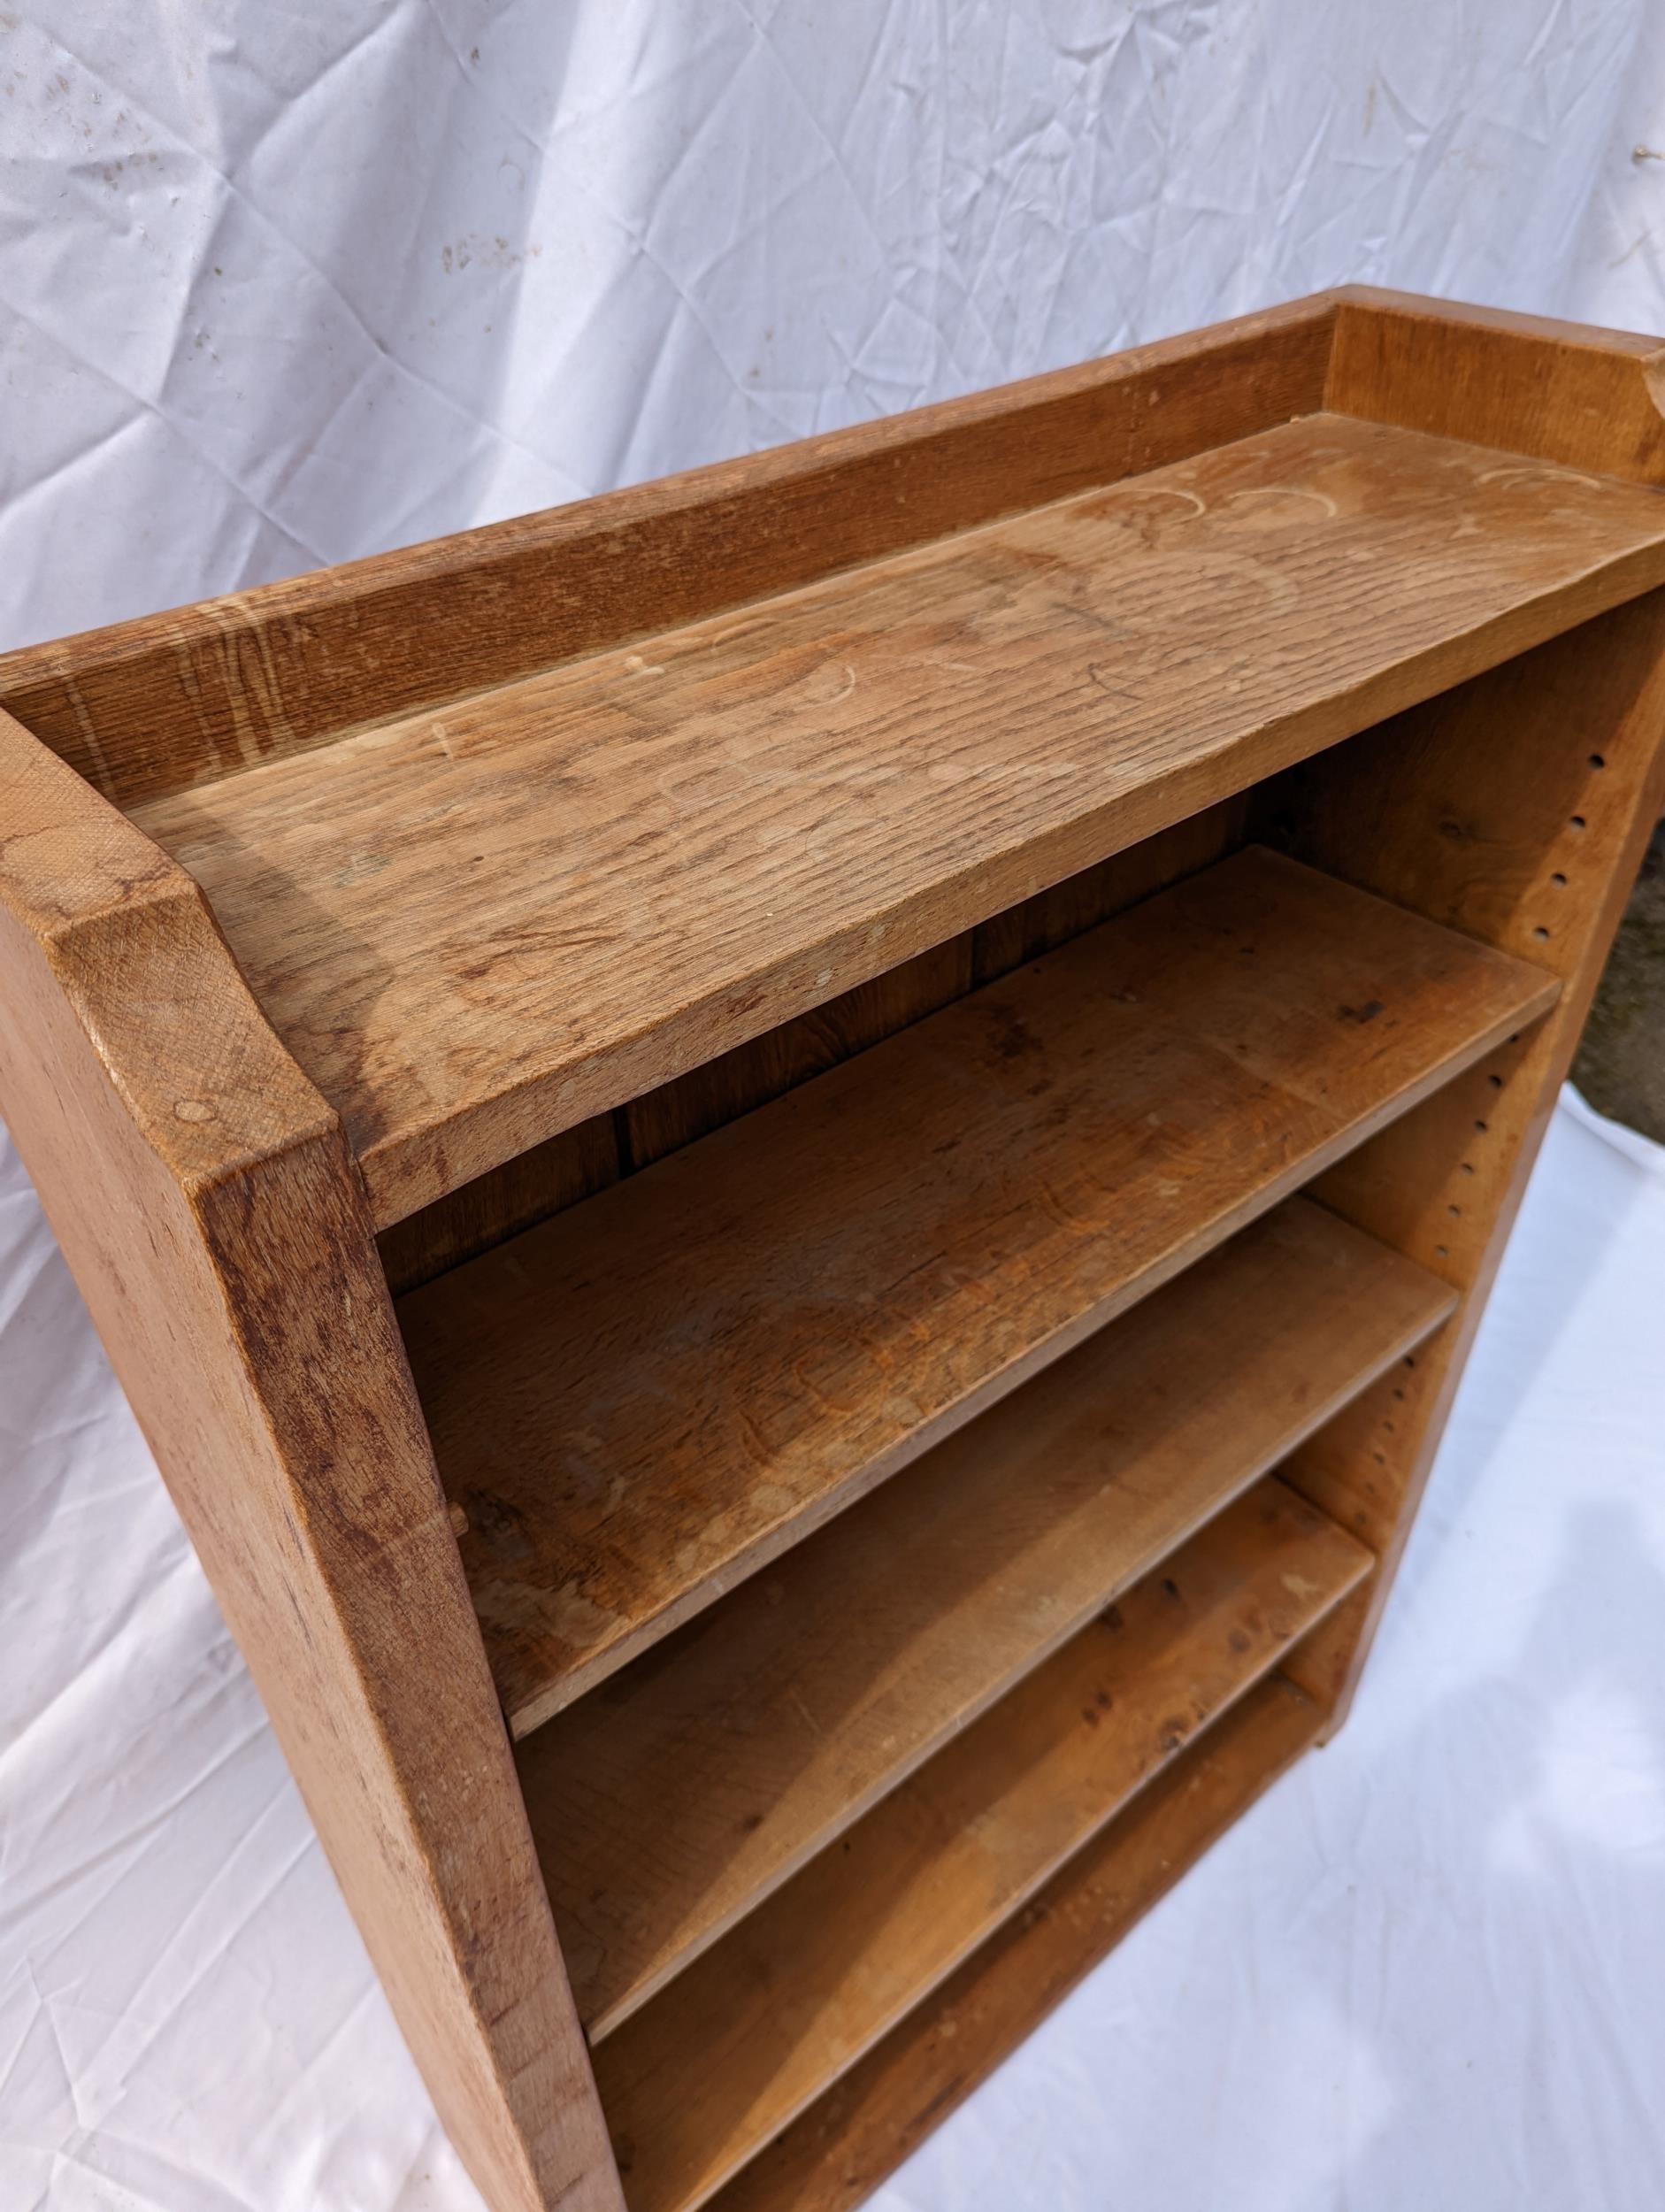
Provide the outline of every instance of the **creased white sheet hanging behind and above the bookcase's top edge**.
[[22,0],[0,153],[0,646],[1324,283],[1665,323],[1650,0]]

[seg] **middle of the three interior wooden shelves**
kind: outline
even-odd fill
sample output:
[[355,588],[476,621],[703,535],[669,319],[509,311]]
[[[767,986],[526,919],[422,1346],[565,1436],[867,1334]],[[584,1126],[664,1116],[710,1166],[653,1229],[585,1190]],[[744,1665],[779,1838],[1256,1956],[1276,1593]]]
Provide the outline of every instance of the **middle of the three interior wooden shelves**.
[[590,2037],[1453,1305],[1289,1199],[528,1736]]

